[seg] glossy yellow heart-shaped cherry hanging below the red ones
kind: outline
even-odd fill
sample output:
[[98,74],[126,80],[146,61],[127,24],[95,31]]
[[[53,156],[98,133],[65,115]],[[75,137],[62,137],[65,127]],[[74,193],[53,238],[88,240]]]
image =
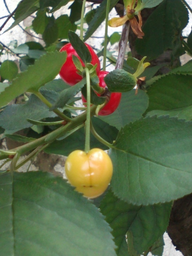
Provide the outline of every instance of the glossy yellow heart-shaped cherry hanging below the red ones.
[[105,192],[113,174],[113,165],[108,154],[98,148],[88,153],[73,151],[65,162],[67,179],[76,190],[88,198]]

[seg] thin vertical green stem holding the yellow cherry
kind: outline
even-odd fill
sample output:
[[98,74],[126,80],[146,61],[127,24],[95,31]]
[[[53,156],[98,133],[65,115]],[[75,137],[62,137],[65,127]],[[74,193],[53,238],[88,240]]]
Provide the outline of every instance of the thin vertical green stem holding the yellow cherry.
[[90,88],[90,75],[86,67],[86,80],[87,80],[87,118],[86,118],[86,132],[85,132],[85,152],[90,151],[90,122],[91,122],[91,88]]

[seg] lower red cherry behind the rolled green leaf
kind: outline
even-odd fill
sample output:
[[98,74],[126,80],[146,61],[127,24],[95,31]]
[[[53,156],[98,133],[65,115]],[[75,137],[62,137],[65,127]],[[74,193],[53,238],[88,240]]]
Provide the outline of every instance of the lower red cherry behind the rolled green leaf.
[[[108,74],[107,71],[100,71],[99,77],[99,86],[105,88],[107,85],[104,81],[104,77]],[[99,95],[99,94],[98,94]],[[100,96],[100,95],[99,95]],[[86,102],[86,99],[81,96],[83,103]],[[112,114],[117,107],[119,106],[121,100],[121,93],[120,92],[112,92],[111,97],[108,103],[99,111],[98,115],[110,115]]]

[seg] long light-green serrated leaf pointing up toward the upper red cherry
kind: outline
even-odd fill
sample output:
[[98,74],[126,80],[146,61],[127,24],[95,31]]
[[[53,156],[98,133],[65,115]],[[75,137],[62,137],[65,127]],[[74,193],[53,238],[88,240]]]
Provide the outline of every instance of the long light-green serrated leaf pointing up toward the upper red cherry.
[[[0,107],[7,105],[20,94],[37,91],[42,85],[56,77],[66,61],[66,52],[49,52],[21,72],[13,83],[0,94]],[[50,65],[51,63],[51,65]],[[41,71],[41,72],[40,72]]]

